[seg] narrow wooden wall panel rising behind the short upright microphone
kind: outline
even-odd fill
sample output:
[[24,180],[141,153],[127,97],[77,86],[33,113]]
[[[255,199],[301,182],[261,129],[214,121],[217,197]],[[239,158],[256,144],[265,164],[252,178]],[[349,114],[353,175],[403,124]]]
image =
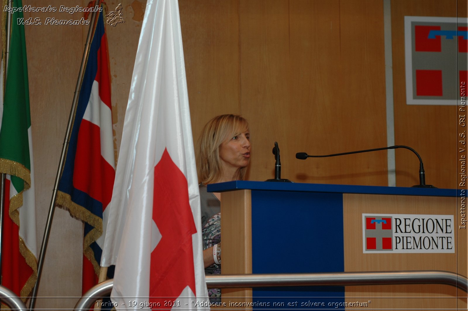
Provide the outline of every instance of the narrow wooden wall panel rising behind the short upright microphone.
[[[274,177],[275,141],[283,161],[290,156],[285,145],[292,84],[288,12],[288,1],[240,1],[241,113],[250,123],[250,180]],[[288,176],[286,167],[283,176]]]

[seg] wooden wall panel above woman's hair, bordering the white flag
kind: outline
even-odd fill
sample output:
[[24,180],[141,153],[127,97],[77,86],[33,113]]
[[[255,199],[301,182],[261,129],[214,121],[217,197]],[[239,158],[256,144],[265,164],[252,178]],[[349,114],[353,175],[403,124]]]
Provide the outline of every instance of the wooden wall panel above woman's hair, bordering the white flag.
[[212,117],[240,114],[238,0],[180,0],[193,140]]

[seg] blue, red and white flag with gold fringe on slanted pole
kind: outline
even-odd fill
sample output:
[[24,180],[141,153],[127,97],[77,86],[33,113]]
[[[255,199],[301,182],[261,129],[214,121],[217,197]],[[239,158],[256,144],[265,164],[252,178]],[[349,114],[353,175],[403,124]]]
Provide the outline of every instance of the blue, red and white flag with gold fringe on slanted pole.
[[107,37],[99,14],[83,77],[57,205],[85,223],[83,283],[97,284],[102,253],[102,223],[115,178]]

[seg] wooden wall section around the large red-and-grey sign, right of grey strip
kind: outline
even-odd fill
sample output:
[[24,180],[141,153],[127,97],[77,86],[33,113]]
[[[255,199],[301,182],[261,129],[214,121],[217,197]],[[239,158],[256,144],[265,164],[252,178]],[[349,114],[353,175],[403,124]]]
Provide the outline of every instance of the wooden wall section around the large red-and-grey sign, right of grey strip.
[[[426,183],[455,188],[458,123],[455,106],[406,104],[404,16],[467,16],[466,1],[392,0],[393,83],[395,144],[408,145],[421,155]],[[456,87],[456,86],[454,86]],[[418,160],[414,154],[396,151],[396,184],[419,184]]]

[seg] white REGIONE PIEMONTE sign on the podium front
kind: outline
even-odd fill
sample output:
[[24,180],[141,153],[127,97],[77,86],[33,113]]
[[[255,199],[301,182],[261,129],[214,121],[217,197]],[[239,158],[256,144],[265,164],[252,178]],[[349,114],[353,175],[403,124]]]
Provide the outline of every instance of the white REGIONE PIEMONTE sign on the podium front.
[[362,214],[363,253],[454,253],[453,215]]

